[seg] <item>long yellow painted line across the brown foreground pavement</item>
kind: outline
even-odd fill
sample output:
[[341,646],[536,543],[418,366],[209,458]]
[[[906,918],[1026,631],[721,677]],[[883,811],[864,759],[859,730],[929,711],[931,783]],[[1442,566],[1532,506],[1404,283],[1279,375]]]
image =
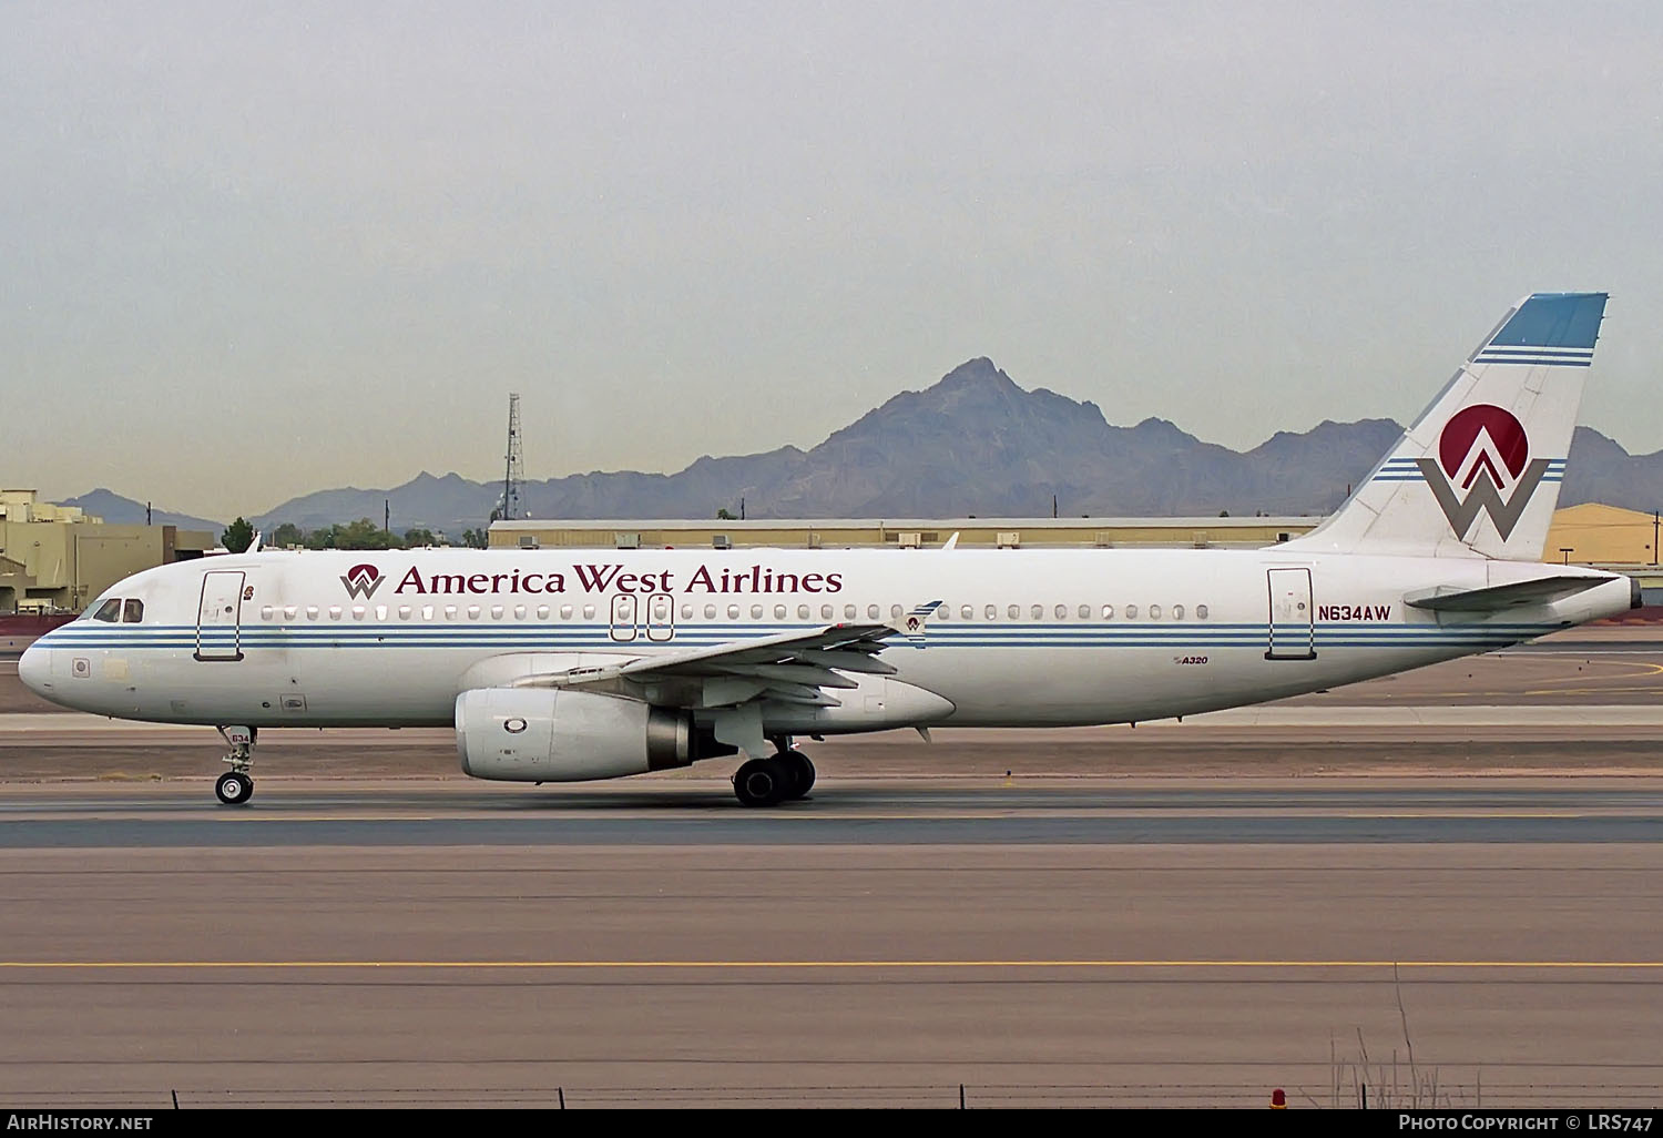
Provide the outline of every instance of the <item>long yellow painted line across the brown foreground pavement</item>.
[[542,972],[589,970],[945,970],[945,968],[1557,968],[1557,970],[1618,970],[1663,968],[1663,960],[0,960],[3,970],[193,970],[193,968],[254,968],[268,972],[294,970],[346,970],[346,968],[397,968],[397,970],[454,970],[454,968],[516,968]]

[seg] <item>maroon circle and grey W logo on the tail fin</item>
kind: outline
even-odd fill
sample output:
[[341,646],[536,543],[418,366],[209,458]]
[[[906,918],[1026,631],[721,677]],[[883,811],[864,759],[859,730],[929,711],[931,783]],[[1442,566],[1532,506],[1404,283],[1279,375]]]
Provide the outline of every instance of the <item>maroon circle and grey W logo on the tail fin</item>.
[[1512,411],[1478,403],[1443,424],[1437,459],[1415,459],[1415,466],[1458,537],[1483,511],[1507,541],[1552,463],[1530,458],[1525,424]]

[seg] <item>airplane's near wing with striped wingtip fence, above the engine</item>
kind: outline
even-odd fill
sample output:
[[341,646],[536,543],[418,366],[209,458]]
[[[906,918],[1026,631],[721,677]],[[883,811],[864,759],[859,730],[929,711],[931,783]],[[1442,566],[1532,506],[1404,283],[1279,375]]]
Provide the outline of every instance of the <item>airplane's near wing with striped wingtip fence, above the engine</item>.
[[722,707],[758,697],[835,707],[838,700],[825,689],[856,687],[840,672],[893,674],[896,669],[876,659],[878,652],[898,639],[923,641],[925,622],[940,604],[916,606],[893,624],[830,624],[727,641],[619,664],[527,675],[517,685],[657,689],[655,702],[687,707]]

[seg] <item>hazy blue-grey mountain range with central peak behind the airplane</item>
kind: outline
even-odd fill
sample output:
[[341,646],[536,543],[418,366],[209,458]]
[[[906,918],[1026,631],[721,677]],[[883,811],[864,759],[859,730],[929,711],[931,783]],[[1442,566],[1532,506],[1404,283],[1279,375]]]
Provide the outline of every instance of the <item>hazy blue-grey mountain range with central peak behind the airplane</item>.
[[[1123,428],[1094,403],[1023,389],[989,359],[971,359],[923,391],[903,391],[812,449],[700,458],[675,474],[610,471],[529,481],[530,517],[1036,517],[1069,516],[1319,516],[1402,433],[1392,419],[1325,421],[1281,431],[1241,453],[1202,443],[1166,419]],[[251,517],[318,529],[379,519],[391,501],[394,531],[424,526],[451,537],[486,524],[501,482],[421,474],[392,489],[328,489]],[[105,497],[108,496],[108,497]],[[1600,501],[1650,511],[1663,502],[1663,451],[1630,454],[1590,428],[1577,428],[1560,506]],[[86,504],[108,521],[143,506],[110,491]],[[123,512],[125,511],[125,512]],[[175,514],[193,529],[211,522]]]

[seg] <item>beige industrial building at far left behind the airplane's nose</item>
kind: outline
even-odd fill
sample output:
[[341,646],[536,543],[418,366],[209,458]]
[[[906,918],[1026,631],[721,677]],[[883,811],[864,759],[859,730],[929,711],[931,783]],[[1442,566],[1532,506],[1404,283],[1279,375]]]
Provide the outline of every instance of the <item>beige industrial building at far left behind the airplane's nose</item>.
[[76,612],[121,577],[201,557],[208,532],[176,526],[108,526],[75,506],[0,489],[0,614]]

